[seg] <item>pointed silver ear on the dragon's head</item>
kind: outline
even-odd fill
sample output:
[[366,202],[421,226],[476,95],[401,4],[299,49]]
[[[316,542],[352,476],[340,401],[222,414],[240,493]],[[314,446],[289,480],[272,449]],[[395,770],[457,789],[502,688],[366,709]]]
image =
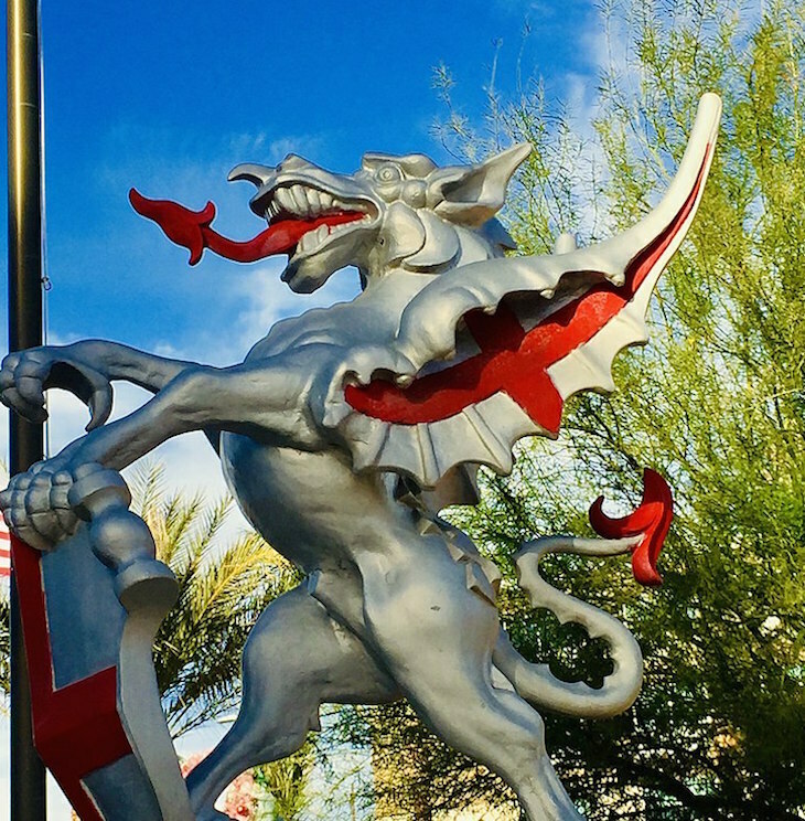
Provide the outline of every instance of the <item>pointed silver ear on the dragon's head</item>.
[[428,205],[448,222],[477,228],[491,220],[506,199],[506,185],[532,152],[520,142],[479,166],[452,166],[428,178]]

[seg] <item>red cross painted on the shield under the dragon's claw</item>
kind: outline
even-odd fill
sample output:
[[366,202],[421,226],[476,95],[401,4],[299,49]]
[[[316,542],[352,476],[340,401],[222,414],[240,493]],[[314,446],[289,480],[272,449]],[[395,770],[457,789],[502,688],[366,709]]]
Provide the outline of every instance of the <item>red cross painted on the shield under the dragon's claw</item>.
[[117,671],[56,689],[42,557],[12,535],[11,555],[31,682],[34,746],[82,821],[104,821],[80,779],[131,753],[117,712]]

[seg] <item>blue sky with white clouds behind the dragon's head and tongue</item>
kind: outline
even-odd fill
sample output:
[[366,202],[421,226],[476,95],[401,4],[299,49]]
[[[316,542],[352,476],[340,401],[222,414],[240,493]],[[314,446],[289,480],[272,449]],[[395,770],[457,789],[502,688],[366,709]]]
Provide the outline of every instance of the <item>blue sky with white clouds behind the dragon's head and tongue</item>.
[[[588,0],[42,6],[50,338],[101,337],[214,364],[237,361],[281,316],[347,298],[355,278],[340,275],[304,298],[279,282],[280,259],[237,266],[205,256],[190,268],[186,252],[131,211],[129,186],[195,209],[212,199],[216,227],[245,238],[261,223],[248,211],[250,186],[226,182],[238,162],[294,151],[352,171],[367,150],[447,160],[431,134],[446,114],[432,87],[438,64],[475,122],[495,55],[504,94],[516,89],[518,63],[525,79],[545,81],[548,99],[594,94],[599,68]],[[118,395],[118,413],[142,398]],[[84,412],[63,396],[51,407],[55,448],[80,433]],[[176,483],[221,487],[197,439],[160,458]]]

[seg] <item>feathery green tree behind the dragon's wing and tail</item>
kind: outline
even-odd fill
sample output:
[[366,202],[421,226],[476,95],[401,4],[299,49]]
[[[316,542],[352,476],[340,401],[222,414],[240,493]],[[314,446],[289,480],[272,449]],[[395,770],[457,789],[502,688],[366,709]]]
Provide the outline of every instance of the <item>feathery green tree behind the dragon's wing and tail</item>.
[[[558,443],[525,445],[513,476],[487,476],[480,508],[454,518],[506,572],[501,609],[518,648],[594,684],[605,651],[529,611],[512,553],[535,534],[582,533],[580,511],[600,492],[634,507],[644,465],[667,476],[676,519],[659,590],[637,589],[616,562],[546,566],[624,619],[646,670],[624,716],[547,716],[551,755],[590,819],[804,818],[805,9],[624,0],[603,12],[614,56],[594,135],[573,134],[538,86],[514,102],[491,94],[480,130],[451,109],[443,134],[465,153],[534,143],[508,220],[523,250],[545,253],[561,231],[595,239],[644,214],[699,96],[716,90],[724,120],[705,199],[652,302],[651,345],[616,362],[619,392],[578,397]],[[444,71],[440,85],[450,104]],[[389,750],[419,736],[418,767],[439,777],[407,780],[432,809],[505,800],[471,763],[395,722],[376,717],[368,733]]]

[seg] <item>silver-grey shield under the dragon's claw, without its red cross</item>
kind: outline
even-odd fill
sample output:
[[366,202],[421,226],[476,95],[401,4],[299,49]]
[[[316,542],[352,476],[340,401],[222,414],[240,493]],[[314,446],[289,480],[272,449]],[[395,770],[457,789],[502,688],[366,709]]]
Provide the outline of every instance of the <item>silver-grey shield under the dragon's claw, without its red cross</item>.
[[191,821],[151,658],[157,630],[176,599],[176,580],[155,561],[151,533],[129,511],[119,473],[84,463],[68,495],[84,522],[42,557],[54,685],[66,689],[115,668],[117,716],[107,721],[119,719],[131,749],[85,775],[83,788],[104,821]]

